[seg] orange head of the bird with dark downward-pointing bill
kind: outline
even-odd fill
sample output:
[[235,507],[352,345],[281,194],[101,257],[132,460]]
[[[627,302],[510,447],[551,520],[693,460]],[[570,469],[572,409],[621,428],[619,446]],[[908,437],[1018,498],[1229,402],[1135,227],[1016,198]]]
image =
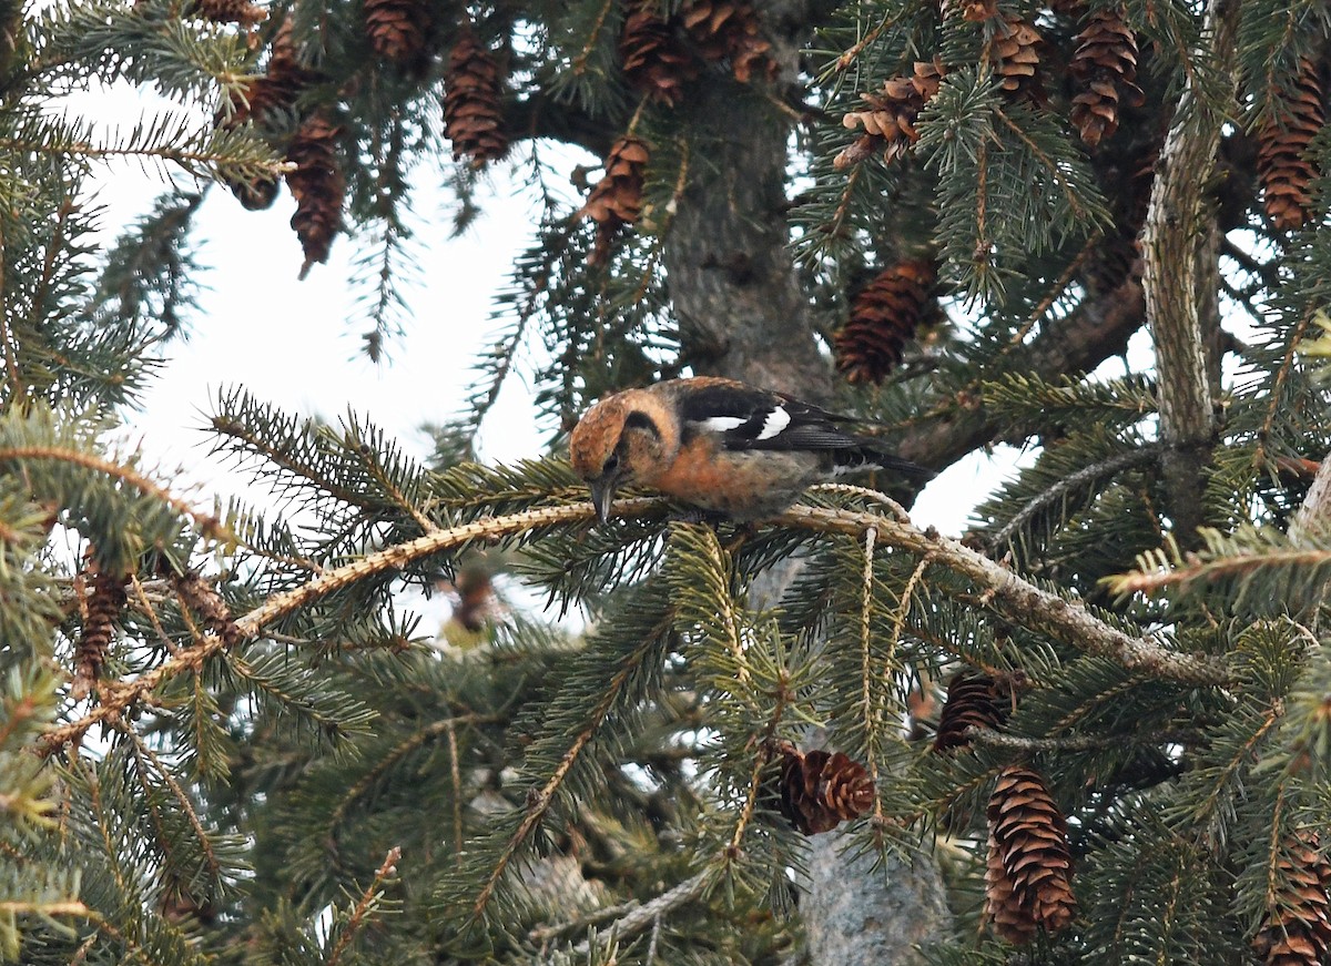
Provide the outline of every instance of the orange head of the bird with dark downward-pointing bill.
[[630,390],[602,399],[568,438],[574,472],[591,487],[596,515],[606,520],[622,486],[648,483],[666,456],[655,401]]

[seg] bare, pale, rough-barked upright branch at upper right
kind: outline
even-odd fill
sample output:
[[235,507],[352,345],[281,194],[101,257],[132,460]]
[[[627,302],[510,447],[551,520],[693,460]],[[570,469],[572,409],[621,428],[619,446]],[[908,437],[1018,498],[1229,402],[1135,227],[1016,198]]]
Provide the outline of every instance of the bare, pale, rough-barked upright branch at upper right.
[[[1225,69],[1234,56],[1238,13],[1234,0],[1210,0],[1206,5],[1205,53]],[[1218,263],[1198,240],[1213,232],[1207,185],[1221,129],[1233,108],[1233,80],[1230,102],[1217,100],[1217,92],[1202,89],[1198,75],[1189,76],[1161,150],[1142,229],[1142,287],[1159,373],[1165,483],[1170,515],[1185,543],[1191,543],[1202,523],[1197,492],[1215,428],[1205,331],[1214,319],[1203,319],[1201,306],[1202,293],[1217,287]]]

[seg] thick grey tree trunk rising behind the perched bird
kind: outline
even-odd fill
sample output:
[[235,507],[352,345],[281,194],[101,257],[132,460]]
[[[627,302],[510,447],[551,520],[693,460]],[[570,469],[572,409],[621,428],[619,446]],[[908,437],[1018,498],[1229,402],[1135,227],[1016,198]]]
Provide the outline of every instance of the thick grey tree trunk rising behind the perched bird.
[[[784,13],[793,31],[793,9],[772,4],[765,13],[769,23]],[[792,72],[796,48],[789,45]],[[825,402],[832,395],[832,363],[815,338],[785,221],[791,114],[729,85],[709,88],[689,112],[689,130],[697,134],[664,251],[684,361],[699,374]],[[771,575],[752,588],[752,600],[775,603],[796,571]],[[942,935],[948,927],[937,866],[926,857],[912,869],[889,864],[892,882],[885,884],[872,858],[843,861],[837,838],[812,841],[815,874],[803,884],[800,911],[812,961],[913,962],[906,958],[910,943]]]

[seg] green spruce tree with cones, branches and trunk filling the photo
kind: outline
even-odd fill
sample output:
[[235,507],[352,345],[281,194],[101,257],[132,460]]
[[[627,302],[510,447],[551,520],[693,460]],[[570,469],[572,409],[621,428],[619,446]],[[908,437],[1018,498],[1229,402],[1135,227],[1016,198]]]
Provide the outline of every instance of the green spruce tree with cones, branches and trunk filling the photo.
[[[0,957],[1327,961],[1322,4],[0,19]],[[101,81],[180,112],[55,110]],[[98,246],[122,156],[188,190]],[[374,355],[422,165],[462,221],[495,172],[544,200],[430,460],[244,387],[214,451],[277,510],[116,444],[204,193],[285,186],[302,270],[355,245]],[[480,466],[518,362],[559,428]],[[564,434],[689,373],[1030,458],[962,535],[886,478],[596,523]],[[445,639],[401,604],[439,585]]]

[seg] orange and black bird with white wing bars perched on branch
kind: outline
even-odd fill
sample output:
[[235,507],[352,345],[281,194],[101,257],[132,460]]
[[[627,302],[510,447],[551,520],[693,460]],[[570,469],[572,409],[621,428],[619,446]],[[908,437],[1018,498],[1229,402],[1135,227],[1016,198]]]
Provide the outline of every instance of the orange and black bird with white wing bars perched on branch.
[[667,379],[595,403],[574,427],[568,455],[602,522],[626,486],[748,522],[780,514],[809,486],[848,472],[933,478],[874,436],[841,427],[855,422],[735,379]]

